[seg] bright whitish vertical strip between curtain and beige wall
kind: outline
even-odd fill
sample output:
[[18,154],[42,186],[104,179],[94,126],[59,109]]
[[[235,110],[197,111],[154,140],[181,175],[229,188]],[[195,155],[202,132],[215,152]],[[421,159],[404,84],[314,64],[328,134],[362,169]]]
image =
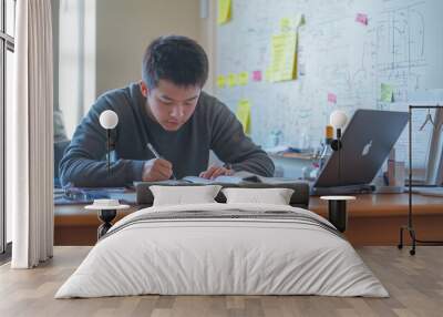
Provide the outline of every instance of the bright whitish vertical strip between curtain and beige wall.
[[[83,27],[81,27],[83,25]],[[95,100],[95,0],[60,0],[59,109],[71,139]]]

